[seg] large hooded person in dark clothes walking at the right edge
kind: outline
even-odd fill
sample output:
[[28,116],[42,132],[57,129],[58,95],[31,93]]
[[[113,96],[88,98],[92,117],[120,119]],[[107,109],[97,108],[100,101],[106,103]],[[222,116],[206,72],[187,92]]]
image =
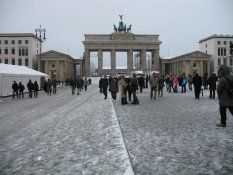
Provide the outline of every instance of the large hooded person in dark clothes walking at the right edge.
[[233,116],[233,94],[230,94],[230,88],[233,84],[233,75],[230,75],[231,70],[228,66],[222,65],[220,67],[222,73],[217,86],[217,93],[219,99],[220,123],[217,126],[226,127],[227,114],[226,110],[229,109]]

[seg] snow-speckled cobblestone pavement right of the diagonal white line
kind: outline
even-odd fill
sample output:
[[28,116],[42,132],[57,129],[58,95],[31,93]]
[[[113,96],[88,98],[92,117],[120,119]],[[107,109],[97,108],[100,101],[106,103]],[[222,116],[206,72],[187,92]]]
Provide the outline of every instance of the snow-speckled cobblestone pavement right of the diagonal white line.
[[233,174],[233,118],[228,112],[227,127],[215,126],[218,99],[208,93],[197,100],[193,92],[165,92],[151,100],[146,89],[140,105],[114,103],[135,174]]

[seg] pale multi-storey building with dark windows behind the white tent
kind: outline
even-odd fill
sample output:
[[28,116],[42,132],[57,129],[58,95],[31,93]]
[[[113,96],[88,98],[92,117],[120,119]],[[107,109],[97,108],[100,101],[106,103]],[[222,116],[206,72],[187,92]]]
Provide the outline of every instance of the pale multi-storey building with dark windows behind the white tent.
[[40,39],[32,33],[0,34],[0,63],[22,65],[37,70]]

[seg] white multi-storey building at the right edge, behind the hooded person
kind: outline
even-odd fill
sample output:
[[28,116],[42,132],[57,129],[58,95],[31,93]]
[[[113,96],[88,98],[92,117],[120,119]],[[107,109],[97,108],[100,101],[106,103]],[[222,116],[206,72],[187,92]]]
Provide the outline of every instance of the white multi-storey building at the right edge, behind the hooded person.
[[218,71],[221,64],[233,68],[233,57],[230,54],[231,35],[212,35],[199,41],[199,50],[212,55],[210,59],[211,72]]

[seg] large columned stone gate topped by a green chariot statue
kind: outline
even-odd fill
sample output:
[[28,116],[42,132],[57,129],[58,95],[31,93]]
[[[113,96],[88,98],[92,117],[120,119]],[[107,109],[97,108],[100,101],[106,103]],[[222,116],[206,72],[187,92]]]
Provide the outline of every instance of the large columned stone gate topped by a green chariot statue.
[[90,76],[90,52],[98,52],[98,74],[103,74],[103,52],[111,53],[111,75],[116,75],[116,52],[127,53],[128,75],[133,71],[133,52],[139,52],[140,70],[145,72],[146,53],[151,52],[151,69],[160,71],[159,35],[135,35],[131,33],[131,25],[127,28],[122,21],[119,27],[114,25],[114,32],[110,35],[85,34],[84,44],[84,76]]

